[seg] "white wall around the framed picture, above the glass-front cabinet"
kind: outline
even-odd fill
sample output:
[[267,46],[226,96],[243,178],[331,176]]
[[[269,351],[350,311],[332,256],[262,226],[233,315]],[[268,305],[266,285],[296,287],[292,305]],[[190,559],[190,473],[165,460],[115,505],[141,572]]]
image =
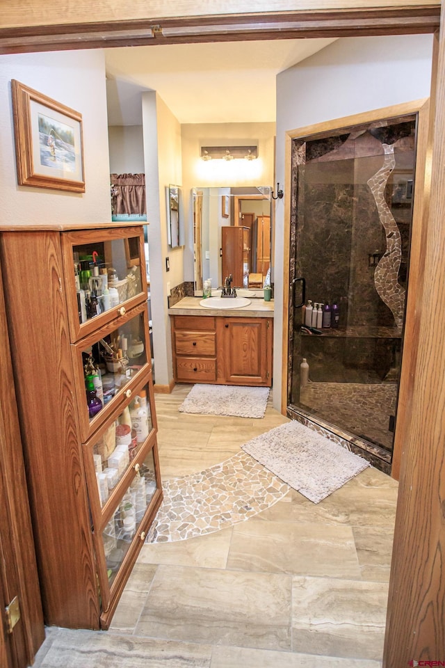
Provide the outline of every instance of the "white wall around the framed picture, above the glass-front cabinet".
[[[85,193],[17,185],[10,80],[79,111]],[[111,221],[104,52],[0,56],[0,223]]]

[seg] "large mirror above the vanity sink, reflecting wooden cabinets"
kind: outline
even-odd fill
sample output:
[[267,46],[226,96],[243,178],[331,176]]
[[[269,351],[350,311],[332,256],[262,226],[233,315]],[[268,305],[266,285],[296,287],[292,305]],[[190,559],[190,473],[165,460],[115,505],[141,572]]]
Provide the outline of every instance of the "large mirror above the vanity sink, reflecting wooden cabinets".
[[192,194],[195,293],[202,294],[207,279],[213,289],[221,287],[224,272],[232,273],[234,287],[270,285],[270,187],[196,187]]

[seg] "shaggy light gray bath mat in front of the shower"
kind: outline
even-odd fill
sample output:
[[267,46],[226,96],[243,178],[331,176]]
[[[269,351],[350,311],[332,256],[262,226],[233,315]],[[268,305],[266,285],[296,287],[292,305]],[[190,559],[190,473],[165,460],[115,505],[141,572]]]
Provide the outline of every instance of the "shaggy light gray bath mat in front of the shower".
[[252,438],[241,447],[314,503],[371,466],[366,459],[296,420]]

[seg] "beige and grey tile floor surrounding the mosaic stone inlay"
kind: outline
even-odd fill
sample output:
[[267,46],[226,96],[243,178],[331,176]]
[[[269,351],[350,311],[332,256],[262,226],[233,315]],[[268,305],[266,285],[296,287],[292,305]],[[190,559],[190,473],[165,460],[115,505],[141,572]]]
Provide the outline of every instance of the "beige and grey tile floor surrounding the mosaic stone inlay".
[[[156,395],[168,481],[286,418],[187,415]],[[397,483],[367,468],[319,504],[283,490],[209,534],[143,546],[108,632],[50,628],[35,668],[379,668]]]

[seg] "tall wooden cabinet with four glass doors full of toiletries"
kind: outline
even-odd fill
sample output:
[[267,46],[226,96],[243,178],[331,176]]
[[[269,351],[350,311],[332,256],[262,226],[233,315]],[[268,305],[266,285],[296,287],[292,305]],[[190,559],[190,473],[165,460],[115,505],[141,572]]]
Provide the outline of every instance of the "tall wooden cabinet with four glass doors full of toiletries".
[[49,626],[108,628],[162,500],[143,248],[139,225],[0,228]]

